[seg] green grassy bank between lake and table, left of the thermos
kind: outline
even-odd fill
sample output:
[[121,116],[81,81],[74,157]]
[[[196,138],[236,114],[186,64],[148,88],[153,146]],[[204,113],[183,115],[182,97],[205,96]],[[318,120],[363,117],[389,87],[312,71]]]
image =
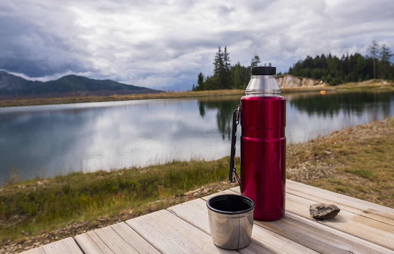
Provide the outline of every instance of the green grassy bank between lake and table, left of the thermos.
[[[72,221],[91,220],[132,210],[136,217],[166,209],[156,200],[180,197],[205,184],[225,180],[229,158],[174,161],[118,171],[72,173],[47,180],[8,184],[0,189],[0,239],[18,239],[53,230]],[[228,174],[227,174],[228,176]]]

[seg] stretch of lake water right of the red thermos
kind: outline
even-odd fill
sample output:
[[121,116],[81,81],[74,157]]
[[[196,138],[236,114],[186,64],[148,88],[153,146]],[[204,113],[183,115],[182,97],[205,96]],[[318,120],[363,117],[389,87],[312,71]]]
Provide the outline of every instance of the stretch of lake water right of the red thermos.
[[331,92],[284,95],[286,137],[299,143],[394,115],[394,92]]

